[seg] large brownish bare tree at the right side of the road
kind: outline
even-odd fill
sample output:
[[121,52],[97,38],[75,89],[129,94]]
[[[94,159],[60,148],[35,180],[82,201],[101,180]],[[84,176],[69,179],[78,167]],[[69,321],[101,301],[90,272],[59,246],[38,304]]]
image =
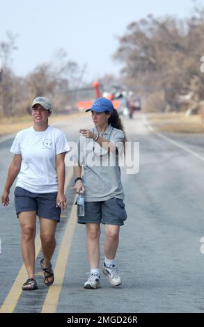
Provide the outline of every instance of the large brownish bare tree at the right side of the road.
[[196,93],[203,94],[199,61],[204,52],[204,10],[194,8],[194,13],[189,19],[148,15],[127,26],[127,33],[119,38],[114,58],[124,63],[123,82],[132,89],[141,88],[146,97],[160,94],[157,105],[162,107],[156,110],[164,110],[164,102],[179,110],[178,95],[194,93],[195,76]]

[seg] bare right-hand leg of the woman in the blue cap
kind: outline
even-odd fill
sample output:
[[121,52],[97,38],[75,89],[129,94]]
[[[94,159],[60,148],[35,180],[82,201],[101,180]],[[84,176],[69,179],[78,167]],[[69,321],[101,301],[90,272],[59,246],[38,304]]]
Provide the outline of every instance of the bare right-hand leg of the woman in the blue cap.
[[104,244],[104,254],[109,260],[116,257],[116,251],[119,243],[120,226],[105,225],[106,240]]

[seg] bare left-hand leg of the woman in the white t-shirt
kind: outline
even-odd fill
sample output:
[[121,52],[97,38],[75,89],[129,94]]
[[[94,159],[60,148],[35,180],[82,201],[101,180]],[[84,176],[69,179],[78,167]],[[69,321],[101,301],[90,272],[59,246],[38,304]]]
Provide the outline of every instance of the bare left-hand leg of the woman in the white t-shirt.
[[18,216],[22,231],[22,257],[29,278],[35,278],[34,267],[36,260],[36,212],[20,212]]

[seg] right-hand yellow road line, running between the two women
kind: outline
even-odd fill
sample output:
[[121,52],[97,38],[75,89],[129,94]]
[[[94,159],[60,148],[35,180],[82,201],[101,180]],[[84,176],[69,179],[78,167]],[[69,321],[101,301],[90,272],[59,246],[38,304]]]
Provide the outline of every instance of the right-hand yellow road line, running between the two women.
[[74,229],[77,223],[77,214],[74,203],[72,205],[72,212],[70,214],[70,219],[67,223],[67,227],[63,236],[63,241],[61,243],[61,248],[58,253],[58,259],[54,269],[54,275],[56,276],[54,285],[49,287],[47,297],[45,298],[45,303],[42,307],[41,313],[55,313],[58,305],[58,299],[61,294],[61,289],[63,287],[63,280],[65,277],[65,270],[70,255],[70,248],[72,245],[72,238],[74,235]]

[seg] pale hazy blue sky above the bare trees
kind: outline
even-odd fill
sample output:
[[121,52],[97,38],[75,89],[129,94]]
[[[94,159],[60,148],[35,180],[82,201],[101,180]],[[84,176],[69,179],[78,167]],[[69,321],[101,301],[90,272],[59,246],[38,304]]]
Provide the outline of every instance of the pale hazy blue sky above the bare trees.
[[149,13],[187,17],[193,6],[192,0],[0,0],[0,42],[6,31],[18,35],[16,74],[31,72],[63,48],[79,65],[87,64],[91,81],[117,74],[119,65],[111,56],[127,24]]

